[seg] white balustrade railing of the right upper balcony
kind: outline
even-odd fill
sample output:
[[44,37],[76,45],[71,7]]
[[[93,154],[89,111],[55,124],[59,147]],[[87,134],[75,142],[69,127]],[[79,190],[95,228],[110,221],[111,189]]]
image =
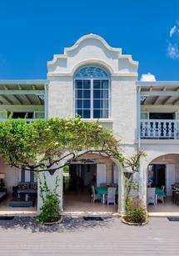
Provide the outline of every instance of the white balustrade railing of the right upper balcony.
[[141,138],[179,139],[179,120],[141,120]]

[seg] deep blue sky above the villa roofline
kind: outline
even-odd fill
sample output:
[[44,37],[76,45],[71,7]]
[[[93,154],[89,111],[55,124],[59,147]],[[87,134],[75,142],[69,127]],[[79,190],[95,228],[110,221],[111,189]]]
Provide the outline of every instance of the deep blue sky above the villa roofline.
[[46,78],[47,60],[87,33],[132,54],[139,79],[179,80],[178,0],[1,1],[0,79]]

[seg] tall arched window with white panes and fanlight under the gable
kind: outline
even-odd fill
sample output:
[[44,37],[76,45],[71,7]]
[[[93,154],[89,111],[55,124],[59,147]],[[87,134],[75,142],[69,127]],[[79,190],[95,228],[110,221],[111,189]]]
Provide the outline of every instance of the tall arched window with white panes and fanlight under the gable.
[[74,75],[75,114],[82,118],[109,118],[110,78],[106,70],[87,66]]

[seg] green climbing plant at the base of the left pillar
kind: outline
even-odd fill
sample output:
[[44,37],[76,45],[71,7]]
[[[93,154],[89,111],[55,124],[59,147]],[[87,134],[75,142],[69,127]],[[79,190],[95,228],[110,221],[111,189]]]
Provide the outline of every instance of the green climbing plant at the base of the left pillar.
[[62,221],[62,214],[59,208],[60,198],[57,193],[59,178],[56,178],[55,188],[51,191],[47,186],[47,180],[39,178],[40,197],[42,198],[41,213],[37,215],[37,221],[42,224],[55,224]]

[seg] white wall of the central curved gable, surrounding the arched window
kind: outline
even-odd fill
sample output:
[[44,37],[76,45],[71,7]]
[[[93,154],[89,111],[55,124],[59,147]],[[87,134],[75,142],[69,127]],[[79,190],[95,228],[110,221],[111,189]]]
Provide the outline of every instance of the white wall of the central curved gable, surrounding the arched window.
[[65,54],[48,62],[48,117],[73,117],[73,74],[82,65],[99,65],[111,74],[111,117],[101,122],[122,140],[133,144],[137,135],[138,63],[121,48],[111,48],[103,38],[87,35]]

